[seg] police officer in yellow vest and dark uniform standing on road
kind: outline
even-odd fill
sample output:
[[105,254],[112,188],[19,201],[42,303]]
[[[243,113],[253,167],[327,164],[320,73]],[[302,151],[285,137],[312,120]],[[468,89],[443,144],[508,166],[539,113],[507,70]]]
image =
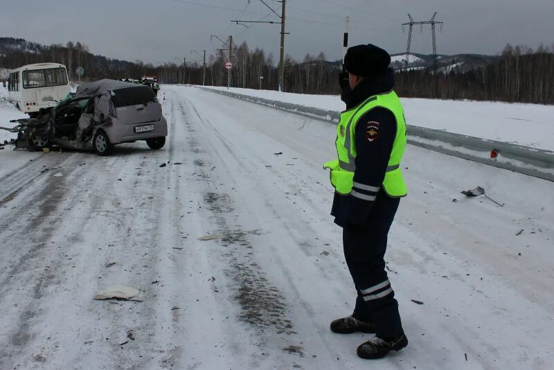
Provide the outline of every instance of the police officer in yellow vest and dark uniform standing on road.
[[375,333],[361,358],[382,358],[408,344],[385,270],[388,229],[407,194],[400,170],[406,146],[404,111],[393,91],[391,57],[372,44],[353,46],[344,58],[337,126],[338,159],[325,164],[335,189],[331,215],[343,228],[344,256],[357,290],[352,315],[331,323],[334,333]]

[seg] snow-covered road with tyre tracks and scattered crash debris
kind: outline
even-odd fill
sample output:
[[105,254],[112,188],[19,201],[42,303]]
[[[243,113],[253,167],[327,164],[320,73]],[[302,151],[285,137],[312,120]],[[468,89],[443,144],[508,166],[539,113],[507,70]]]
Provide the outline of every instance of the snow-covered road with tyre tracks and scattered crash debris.
[[[367,335],[328,329],[355,299],[334,127],[162,91],[161,151],[0,152],[0,369],[367,368]],[[552,369],[554,184],[411,146],[403,166],[387,258],[410,344],[379,369]],[[505,205],[459,193],[477,185]],[[143,301],[91,299],[114,283]]]

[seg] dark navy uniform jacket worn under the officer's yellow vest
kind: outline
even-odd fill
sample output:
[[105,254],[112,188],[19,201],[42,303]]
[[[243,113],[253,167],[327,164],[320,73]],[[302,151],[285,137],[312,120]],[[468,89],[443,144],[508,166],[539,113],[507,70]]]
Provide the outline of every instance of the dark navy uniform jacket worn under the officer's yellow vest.
[[[343,90],[341,99],[346,103],[346,109],[351,109],[370,96],[390,92],[393,87],[394,72],[388,69],[382,76],[362,80],[354,89],[347,87]],[[359,118],[355,131],[357,156],[354,182],[382,187],[395,136],[396,119],[388,109],[376,107]],[[359,188],[356,191],[364,193]],[[381,188],[377,193],[377,200],[386,196],[388,195]],[[364,227],[374,202],[335,193],[331,215],[340,227]]]

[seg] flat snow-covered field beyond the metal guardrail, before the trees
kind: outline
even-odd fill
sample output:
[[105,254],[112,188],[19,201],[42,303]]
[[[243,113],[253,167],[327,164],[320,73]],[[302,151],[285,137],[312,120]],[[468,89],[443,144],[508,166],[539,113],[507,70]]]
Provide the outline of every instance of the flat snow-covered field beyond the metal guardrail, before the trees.
[[[209,88],[227,90],[226,87]],[[231,91],[321,109],[344,109],[339,96],[240,88],[231,88]],[[402,103],[409,125],[554,150],[554,105],[417,98],[402,98]]]

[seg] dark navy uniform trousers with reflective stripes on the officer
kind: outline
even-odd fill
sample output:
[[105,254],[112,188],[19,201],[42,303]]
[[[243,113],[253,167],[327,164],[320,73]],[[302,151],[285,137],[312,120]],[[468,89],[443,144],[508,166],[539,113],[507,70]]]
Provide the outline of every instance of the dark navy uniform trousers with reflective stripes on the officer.
[[388,229],[398,204],[399,198],[388,197],[381,190],[365,226],[343,227],[344,256],[358,292],[354,316],[373,322],[375,334],[381,338],[404,333],[384,261]]

